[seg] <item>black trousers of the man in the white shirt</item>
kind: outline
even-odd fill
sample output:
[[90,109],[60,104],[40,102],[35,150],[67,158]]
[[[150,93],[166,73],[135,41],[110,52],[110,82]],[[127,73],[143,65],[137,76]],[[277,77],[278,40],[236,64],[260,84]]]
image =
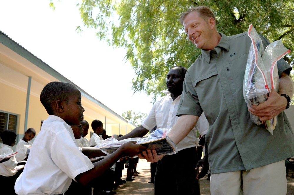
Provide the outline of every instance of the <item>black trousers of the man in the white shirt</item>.
[[157,162],[154,194],[200,194],[199,183],[196,179],[196,164],[196,147],[181,150],[174,155],[164,156]]

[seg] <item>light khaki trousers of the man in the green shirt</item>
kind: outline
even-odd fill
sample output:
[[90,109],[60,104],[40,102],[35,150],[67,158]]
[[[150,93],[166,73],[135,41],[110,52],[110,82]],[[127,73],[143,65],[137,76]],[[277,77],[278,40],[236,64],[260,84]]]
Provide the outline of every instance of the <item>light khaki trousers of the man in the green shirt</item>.
[[211,195],[286,195],[285,161],[248,171],[211,174]]

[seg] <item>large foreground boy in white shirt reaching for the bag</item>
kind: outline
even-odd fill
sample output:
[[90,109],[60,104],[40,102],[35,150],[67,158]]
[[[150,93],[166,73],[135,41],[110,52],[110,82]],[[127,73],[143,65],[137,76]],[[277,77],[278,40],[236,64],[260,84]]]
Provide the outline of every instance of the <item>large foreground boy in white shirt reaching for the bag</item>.
[[51,82],[42,90],[40,100],[50,116],[43,122],[24,171],[16,180],[16,194],[63,194],[72,179],[86,185],[122,156],[134,156],[146,149],[128,142],[92,164],[89,158],[105,154],[98,148],[79,148],[70,127],[83,121],[81,92],[72,84]]

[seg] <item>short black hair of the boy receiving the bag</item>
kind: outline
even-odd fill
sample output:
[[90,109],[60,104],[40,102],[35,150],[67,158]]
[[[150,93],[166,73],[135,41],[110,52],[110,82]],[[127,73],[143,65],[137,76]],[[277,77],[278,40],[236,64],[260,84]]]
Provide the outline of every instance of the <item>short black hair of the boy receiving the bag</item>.
[[53,106],[57,100],[68,102],[69,96],[76,89],[70,83],[50,82],[46,84],[40,94],[40,101],[49,115],[53,115]]

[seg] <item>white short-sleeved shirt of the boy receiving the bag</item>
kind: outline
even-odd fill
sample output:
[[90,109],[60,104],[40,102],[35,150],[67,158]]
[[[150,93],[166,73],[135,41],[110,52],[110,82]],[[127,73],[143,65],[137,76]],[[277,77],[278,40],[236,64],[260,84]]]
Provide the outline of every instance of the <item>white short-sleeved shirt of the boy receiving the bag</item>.
[[14,189],[19,195],[62,194],[72,179],[93,167],[77,146],[71,127],[61,118],[50,115],[36,136]]

